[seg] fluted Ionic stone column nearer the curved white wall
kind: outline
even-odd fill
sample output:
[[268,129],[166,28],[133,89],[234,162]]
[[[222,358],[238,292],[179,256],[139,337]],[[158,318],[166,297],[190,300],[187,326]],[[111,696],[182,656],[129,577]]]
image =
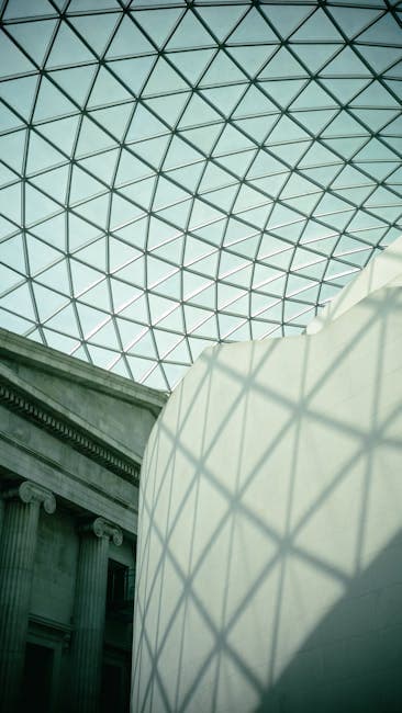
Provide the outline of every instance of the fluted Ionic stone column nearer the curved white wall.
[[71,706],[74,713],[98,713],[102,674],[109,541],[121,545],[120,528],[97,518],[80,528],[71,640]]

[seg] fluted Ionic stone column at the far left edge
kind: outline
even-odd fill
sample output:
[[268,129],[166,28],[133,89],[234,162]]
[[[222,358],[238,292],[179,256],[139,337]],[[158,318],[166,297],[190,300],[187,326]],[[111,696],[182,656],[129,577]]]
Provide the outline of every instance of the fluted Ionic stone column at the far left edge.
[[53,494],[25,480],[3,494],[0,540],[0,711],[14,713],[25,657],[40,508],[56,509]]

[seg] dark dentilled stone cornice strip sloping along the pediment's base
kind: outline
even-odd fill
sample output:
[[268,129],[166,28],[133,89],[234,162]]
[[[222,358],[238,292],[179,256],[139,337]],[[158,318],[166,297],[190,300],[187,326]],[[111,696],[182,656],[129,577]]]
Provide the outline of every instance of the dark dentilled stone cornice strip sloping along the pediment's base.
[[94,433],[78,417],[70,418],[53,399],[45,397],[38,389],[27,389],[11,370],[0,364],[0,404],[35,423],[52,435],[67,441],[71,448],[96,461],[112,473],[138,483],[139,460],[136,461],[120,444]]

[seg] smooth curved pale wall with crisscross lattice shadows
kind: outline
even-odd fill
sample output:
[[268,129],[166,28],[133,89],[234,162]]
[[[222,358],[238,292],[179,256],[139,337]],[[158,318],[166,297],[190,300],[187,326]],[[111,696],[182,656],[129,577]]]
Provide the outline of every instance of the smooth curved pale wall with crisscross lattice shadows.
[[132,713],[402,710],[402,291],[208,349],[142,473]]

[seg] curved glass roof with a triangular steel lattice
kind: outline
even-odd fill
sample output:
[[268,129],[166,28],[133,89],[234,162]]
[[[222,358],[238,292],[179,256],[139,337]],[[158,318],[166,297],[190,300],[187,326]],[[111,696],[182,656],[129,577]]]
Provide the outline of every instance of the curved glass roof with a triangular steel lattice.
[[401,3],[0,8],[0,326],[170,389],[401,234]]

